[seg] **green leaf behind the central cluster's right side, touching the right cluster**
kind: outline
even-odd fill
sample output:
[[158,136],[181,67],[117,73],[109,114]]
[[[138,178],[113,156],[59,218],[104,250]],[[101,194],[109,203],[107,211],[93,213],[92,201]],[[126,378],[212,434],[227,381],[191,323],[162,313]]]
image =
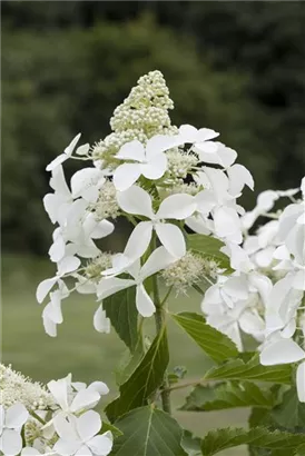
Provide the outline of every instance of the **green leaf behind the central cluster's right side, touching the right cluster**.
[[230,270],[229,257],[220,251],[224,242],[213,236],[188,235],[187,247],[196,254],[217,261],[220,268]]

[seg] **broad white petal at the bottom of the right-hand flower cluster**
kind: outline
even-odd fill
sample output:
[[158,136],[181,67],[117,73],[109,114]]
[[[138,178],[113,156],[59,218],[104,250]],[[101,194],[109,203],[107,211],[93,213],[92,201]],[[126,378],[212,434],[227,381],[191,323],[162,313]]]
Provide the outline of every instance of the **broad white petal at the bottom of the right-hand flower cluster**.
[[267,345],[260,354],[263,366],[297,363],[305,358],[305,351],[292,339],[281,339]]

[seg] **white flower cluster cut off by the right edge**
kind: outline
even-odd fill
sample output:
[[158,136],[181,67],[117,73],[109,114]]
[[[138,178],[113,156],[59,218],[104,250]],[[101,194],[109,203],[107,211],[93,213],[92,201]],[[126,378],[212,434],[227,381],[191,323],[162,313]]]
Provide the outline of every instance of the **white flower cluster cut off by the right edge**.
[[203,310],[240,350],[243,334],[257,339],[263,365],[299,363],[296,384],[305,402],[305,178],[301,188],[260,194],[242,226],[243,247],[236,257],[230,252],[234,272],[218,276]]

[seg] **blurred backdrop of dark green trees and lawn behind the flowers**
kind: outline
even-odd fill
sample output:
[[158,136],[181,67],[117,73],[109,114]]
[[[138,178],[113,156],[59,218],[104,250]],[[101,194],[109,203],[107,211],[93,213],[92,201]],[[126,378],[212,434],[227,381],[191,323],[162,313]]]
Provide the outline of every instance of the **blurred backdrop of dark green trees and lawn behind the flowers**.
[[[41,259],[52,229],[41,202],[46,165],[78,131],[91,143],[109,133],[116,106],[142,73],[159,69],[175,101],[173,123],[220,131],[253,172],[246,207],[263,189],[297,186],[305,171],[305,1],[1,0],[0,40],[2,359],[42,380],[72,370],[114,385],[124,347],[91,330],[95,303],[67,303],[57,340],[41,328],[35,288],[53,274]],[[68,175],[75,169],[68,163]],[[173,340],[173,363],[199,375],[201,354],[177,330]],[[197,430],[225,424],[218,415],[189,419]]]

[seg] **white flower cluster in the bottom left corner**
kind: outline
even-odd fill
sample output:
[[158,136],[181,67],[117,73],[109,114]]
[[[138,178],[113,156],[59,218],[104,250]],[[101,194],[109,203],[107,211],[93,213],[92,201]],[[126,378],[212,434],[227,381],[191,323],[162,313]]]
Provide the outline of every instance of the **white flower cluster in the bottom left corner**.
[[[100,416],[92,410],[108,394],[106,384],[87,387],[72,383],[69,375],[42,387],[10,367],[1,365],[1,373],[6,378],[0,395],[1,454],[107,456],[111,452],[112,435],[101,432]],[[33,398],[38,399],[35,406]]]

